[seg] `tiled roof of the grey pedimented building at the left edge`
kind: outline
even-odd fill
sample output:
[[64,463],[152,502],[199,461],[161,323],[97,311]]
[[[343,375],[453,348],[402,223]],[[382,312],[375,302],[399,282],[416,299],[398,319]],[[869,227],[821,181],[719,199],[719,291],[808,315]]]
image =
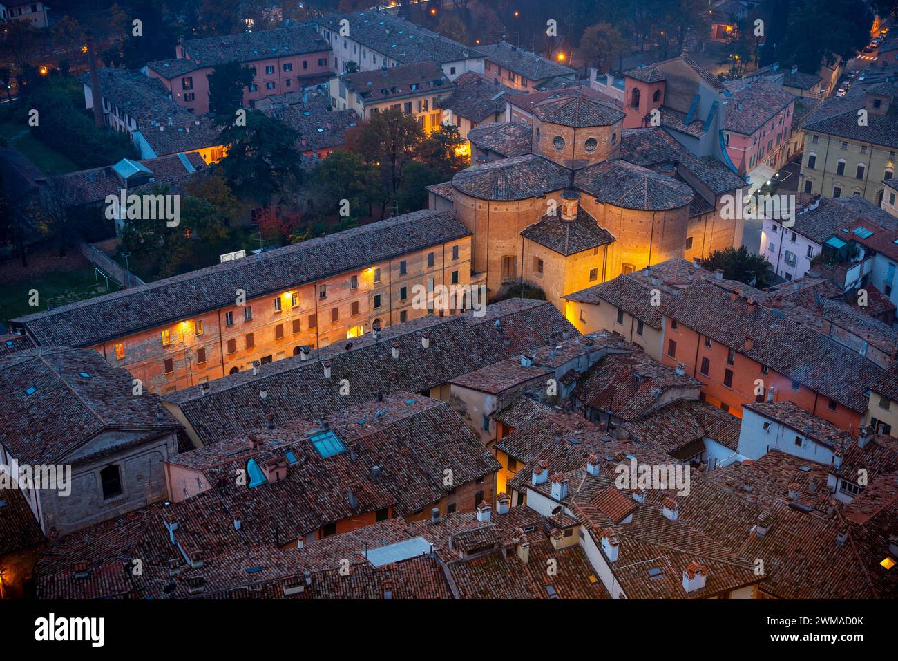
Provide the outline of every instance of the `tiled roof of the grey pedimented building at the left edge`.
[[0,439],[19,463],[51,464],[103,431],[151,438],[180,429],[158,397],[133,397],[131,380],[92,349],[40,347],[5,356]]

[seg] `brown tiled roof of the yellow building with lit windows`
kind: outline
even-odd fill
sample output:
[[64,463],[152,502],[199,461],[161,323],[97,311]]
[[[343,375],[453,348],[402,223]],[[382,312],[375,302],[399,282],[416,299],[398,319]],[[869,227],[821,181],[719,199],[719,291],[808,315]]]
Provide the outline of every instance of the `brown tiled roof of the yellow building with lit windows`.
[[340,76],[340,81],[355,92],[362,103],[447,92],[455,86],[443,73],[443,67],[433,61],[357,71]]

